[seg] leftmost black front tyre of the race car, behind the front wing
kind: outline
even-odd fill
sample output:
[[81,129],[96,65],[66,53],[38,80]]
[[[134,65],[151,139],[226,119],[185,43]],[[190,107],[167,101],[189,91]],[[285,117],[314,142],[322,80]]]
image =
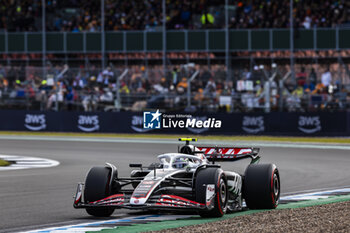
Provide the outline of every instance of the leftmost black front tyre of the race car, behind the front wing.
[[[111,170],[106,167],[92,167],[85,180],[84,200],[85,202],[98,201],[108,197],[112,188],[110,187]],[[108,217],[113,208],[87,208],[86,212],[95,217]]]

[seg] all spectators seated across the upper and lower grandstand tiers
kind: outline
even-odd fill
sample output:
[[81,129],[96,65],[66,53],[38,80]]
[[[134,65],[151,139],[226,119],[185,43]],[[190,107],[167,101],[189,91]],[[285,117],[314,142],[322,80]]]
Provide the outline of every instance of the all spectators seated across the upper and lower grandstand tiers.
[[[166,0],[168,29],[222,28],[225,1]],[[249,0],[229,3],[230,28],[286,28],[289,22],[289,0]],[[41,31],[41,0],[4,0],[0,6],[0,30]],[[101,30],[100,0],[46,0],[46,30],[96,32]],[[158,30],[163,23],[162,0],[105,0],[105,30]],[[294,0],[294,27],[350,26],[350,1]],[[298,58],[349,57],[348,50],[296,51]],[[53,59],[47,54],[48,59]],[[78,54],[82,59],[100,54]],[[161,53],[110,53],[108,59],[160,59]],[[213,59],[214,53],[169,52],[169,59]],[[233,58],[289,58],[289,51],[236,52]],[[79,57],[78,57],[79,58]],[[3,54],[3,60],[41,60],[40,54]],[[59,58],[62,59],[61,57]],[[54,60],[54,59],[53,59]],[[281,61],[281,60],[280,60]],[[122,68],[100,70],[93,65],[71,68],[59,76],[62,66],[37,67],[0,65],[0,108],[50,110],[59,103],[66,110],[141,111],[147,108],[185,109],[190,88],[192,107],[187,111],[308,111],[348,109],[349,67],[339,63],[327,65],[297,64],[295,80],[288,78],[281,87],[279,80],[288,72],[279,64],[278,75],[266,86],[267,77],[276,70],[259,66],[233,67],[227,78],[223,65],[194,64],[152,68],[129,66],[121,80]],[[10,64],[8,62],[8,64]],[[188,83],[198,70],[199,75]],[[190,85],[190,86],[189,86]],[[266,95],[266,93],[269,95]],[[269,100],[267,97],[269,96]],[[118,98],[119,97],[119,98]],[[229,97],[229,98],[228,98]],[[268,105],[266,103],[269,103]]]

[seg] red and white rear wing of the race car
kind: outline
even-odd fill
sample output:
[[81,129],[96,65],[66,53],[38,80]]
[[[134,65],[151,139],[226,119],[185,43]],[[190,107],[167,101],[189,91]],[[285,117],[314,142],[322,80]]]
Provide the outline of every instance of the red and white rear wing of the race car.
[[213,163],[215,161],[237,161],[240,159],[251,158],[251,163],[257,163],[260,160],[259,148],[252,147],[203,147],[196,146],[199,151],[194,153],[203,153],[204,156]]

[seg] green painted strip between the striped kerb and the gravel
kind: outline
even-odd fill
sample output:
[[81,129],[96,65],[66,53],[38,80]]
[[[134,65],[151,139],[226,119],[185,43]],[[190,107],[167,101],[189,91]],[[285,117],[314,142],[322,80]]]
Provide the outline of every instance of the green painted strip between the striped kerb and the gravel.
[[[309,207],[309,206],[315,206],[315,205],[324,205],[324,204],[331,204],[336,202],[344,202],[344,201],[350,201],[350,195],[344,195],[344,196],[334,196],[329,197],[326,199],[318,199],[318,200],[312,200],[312,201],[302,201],[302,202],[294,202],[294,203],[288,203],[288,204],[281,204],[277,207],[277,210],[281,209],[293,209],[293,208],[302,208],[302,207]],[[136,232],[146,232],[146,231],[159,231],[163,229],[169,229],[169,228],[178,228],[183,226],[190,226],[190,225],[197,225],[197,224],[203,224],[203,223],[209,223],[209,222],[215,222],[215,221],[222,221],[238,216],[243,215],[250,215],[254,213],[264,212],[264,211],[271,211],[271,210],[247,210],[242,212],[236,212],[233,214],[226,214],[222,218],[208,218],[203,219],[201,217],[193,217],[189,219],[183,219],[183,220],[172,220],[172,221],[163,221],[163,222],[153,222],[153,223],[147,223],[147,224],[136,224],[131,226],[119,226],[115,229],[105,229],[100,231],[101,233],[136,233]],[[276,210],[272,210],[276,211]],[[93,232],[89,232],[93,233]]]

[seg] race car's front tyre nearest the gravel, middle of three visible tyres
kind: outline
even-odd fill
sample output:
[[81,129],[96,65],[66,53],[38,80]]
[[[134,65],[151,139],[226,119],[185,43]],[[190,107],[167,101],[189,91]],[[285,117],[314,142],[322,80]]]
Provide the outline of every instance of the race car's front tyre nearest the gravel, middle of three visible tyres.
[[211,210],[203,210],[199,212],[201,217],[221,217],[226,213],[227,209],[227,180],[225,174],[220,168],[209,167],[201,169],[197,172],[195,181],[196,201],[199,203],[207,203],[207,185],[215,186],[215,194],[212,198],[214,206]]

